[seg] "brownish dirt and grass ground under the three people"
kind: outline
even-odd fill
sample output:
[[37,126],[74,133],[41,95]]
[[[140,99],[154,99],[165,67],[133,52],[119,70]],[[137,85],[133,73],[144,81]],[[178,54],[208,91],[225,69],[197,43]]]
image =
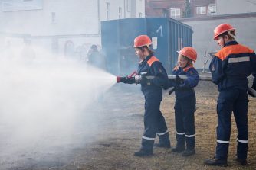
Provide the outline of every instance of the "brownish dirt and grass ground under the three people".
[[[215,152],[215,107],[218,91],[212,82],[205,81],[199,82],[195,91],[197,111],[194,156],[183,158],[180,154],[172,153],[171,149],[158,148],[154,149],[154,155],[150,157],[133,156],[133,152],[140,147],[143,135],[143,95],[138,85],[117,84],[107,91],[103,101],[98,101],[97,107],[90,108],[98,119],[98,123],[94,124],[97,129],[94,134],[82,132],[74,135],[74,138],[84,140],[84,143],[79,146],[74,143],[67,143],[64,147],[56,146],[43,156],[38,156],[36,152],[18,153],[12,161],[7,161],[6,157],[3,159],[2,156],[0,169],[256,169],[256,98],[249,98],[248,166],[242,167],[235,162],[237,133],[232,117],[228,168],[216,168],[203,165],[202,162],[214,156]],[[165,91],[161,105],[172,146],[176,145],[174,99],[173,94],[169,96],[168,91]]]

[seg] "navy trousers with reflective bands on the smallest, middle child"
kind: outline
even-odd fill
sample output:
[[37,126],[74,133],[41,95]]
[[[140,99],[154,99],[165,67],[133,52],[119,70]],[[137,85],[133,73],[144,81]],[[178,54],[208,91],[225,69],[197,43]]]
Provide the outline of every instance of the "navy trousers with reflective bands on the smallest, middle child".
[[176,146],[185,146],[187,149],[195,148],[195,94],[188,98],[176,98],[175,126]]

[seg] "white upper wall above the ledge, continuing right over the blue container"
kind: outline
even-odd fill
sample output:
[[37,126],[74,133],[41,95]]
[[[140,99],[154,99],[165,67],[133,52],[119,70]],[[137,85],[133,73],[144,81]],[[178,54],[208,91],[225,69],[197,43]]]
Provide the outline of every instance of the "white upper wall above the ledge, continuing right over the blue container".
[[[139,13],[145,16],[144,0],[136,0],[136,10],[130,11],[127,11],[127,3],[134,0],[43,0],[41,10],[0,10],[0,24],[3,26],[0,30],[31,35],[99,34],[98,15],[100,21],[107,20],[107,2],[110,4],[109,20],[119,19],[119,8],[122,9],[121,18],[131,18],[133,11],[135,17],[139,17]],[[54,23],[51,22],[53,12],[56,16]]]

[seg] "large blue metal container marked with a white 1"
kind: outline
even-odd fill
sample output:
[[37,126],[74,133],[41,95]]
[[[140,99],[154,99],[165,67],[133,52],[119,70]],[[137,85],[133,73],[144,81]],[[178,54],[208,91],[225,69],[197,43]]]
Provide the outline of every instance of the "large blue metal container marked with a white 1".
[[192,47],[192,27],[172,18],[101,21],[101,43],[108,72],[128,75],[137,69],[139,59],[134,53],[133,40],[141,34],[153,40],[151,49],[168,74],[176,66],[177,51],[182,47]]

